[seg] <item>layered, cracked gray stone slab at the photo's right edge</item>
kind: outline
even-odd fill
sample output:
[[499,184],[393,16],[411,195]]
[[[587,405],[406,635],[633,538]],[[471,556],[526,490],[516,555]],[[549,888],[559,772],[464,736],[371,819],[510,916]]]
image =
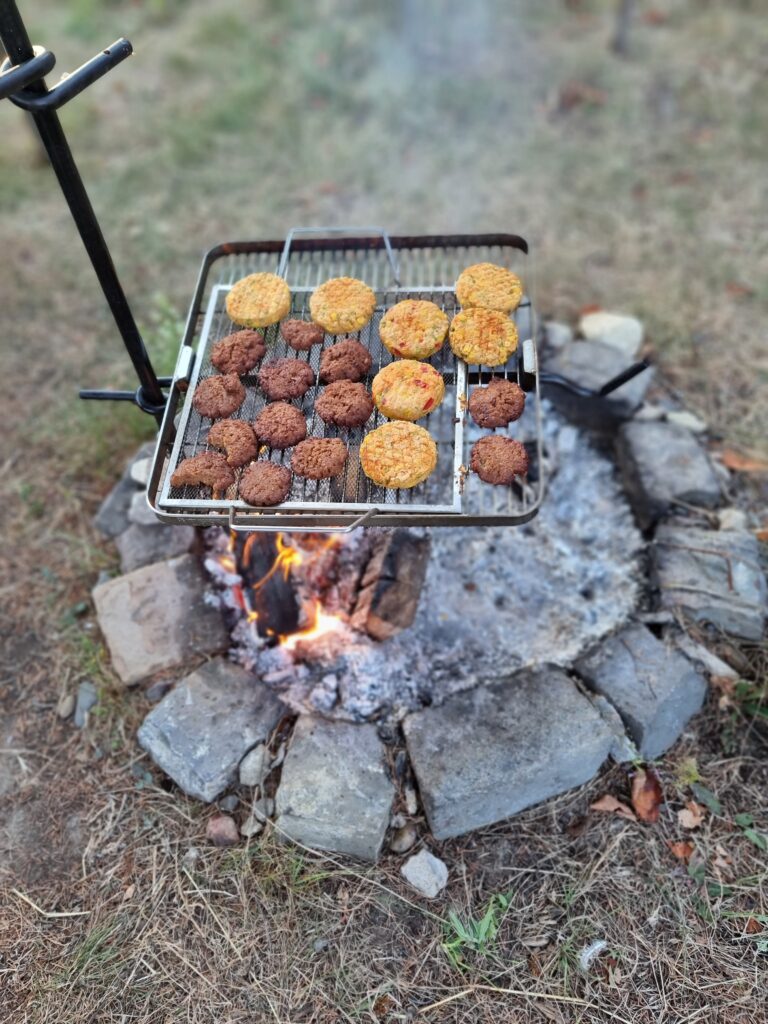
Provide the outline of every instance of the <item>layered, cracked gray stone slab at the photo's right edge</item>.
[[768,598],[753,534],[663,523],[651,550],[663,608],[761,639]]

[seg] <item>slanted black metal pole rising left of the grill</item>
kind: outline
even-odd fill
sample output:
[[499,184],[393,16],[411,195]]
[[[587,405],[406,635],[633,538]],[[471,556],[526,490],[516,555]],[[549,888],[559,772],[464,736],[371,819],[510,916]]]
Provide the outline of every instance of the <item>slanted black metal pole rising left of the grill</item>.
[[[15,0],[0,0],[0,40],[2,40],[5,52],[14,65],[25,63],[35,55]],[[28,85],[27,90],[41,96],[48,92],[42,79]],[[93,269],[96,271],[98,283],[115,317],[123,343],[136,371],[140,385],[141,408],[152,413],[160,424],[166,399],[128,305],[125,292],[118,280],[110,250],[73,159],[58,115],[55,111],[42,110],[33,111],[32,117]]]

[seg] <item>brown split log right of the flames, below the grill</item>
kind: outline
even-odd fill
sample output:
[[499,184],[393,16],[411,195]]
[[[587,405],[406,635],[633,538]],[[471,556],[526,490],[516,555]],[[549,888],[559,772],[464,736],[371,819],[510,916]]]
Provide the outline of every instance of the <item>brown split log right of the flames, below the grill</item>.
[[362,571],[351,624],[376,640],[407,629],[416,617],[430,541],[410,529],[378,531]]

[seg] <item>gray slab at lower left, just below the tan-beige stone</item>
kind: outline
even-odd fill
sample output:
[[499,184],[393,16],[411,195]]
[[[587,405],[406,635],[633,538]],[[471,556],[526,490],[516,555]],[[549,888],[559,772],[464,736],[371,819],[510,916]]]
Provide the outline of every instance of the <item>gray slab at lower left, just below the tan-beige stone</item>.
[[241,760],[266,740],[284,713],[252,673],[215,658],[153,708],[138,741],[179,788],[211,803],[237,780]]

